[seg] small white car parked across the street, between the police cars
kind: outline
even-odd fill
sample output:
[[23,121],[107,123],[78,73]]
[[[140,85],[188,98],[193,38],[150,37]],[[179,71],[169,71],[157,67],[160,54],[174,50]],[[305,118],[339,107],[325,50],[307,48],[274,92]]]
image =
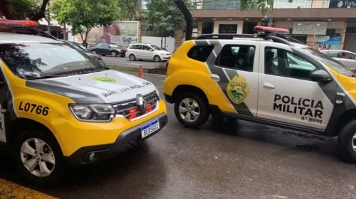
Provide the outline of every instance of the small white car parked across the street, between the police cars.
[[161,62],[163,60],[169,60],[172,57],[172,53],[150,43],[131,44],[126,50],[126,55],[128,55],[132,61],[155,60],[155,62]]

